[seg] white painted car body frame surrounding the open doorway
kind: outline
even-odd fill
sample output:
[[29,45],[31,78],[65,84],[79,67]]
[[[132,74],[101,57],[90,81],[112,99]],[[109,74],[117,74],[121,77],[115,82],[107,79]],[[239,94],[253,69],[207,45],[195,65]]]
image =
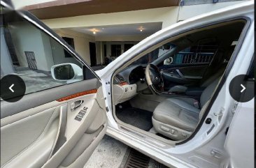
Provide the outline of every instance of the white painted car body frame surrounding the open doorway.
[[[178,22],[177,24],[173,24],[172,26],[167,27],[166,29],[162,29],[157,33],[145,38],[134,47],[131,47],[127,52],[119,56],[115,61],[111,62],[106,68],[103,70],[97,71],[97,75],[101,78],[104,97],[106,98],[106,106],[109,109],[107,113],[108,116],[108,130],[107,134],[111,137],[119,139],[125,144],[132,146],[142,153],[150,155],[152,158],[158,160],[159,162],[164,163],[168,166],[174,167],[227,167],[229,161],[220,160],[215,154],[221,155],[221,158],[229,158],[229,160],[238,160],[239,157],[234,155],[229,155],[227,153],[227,149],[224,147],[225,144],[225,135],[222,135],[223,129],[229,125],[232,121],[233,114],[231,114],[232,107],[234,106],[235,101],[229,95],[229,83],[236,76],[241,74],[246,74],[248,67],[250,66],[250,61],[253,57],[254,53],[254,1],[248,1],[246,3],[239,3],[235,6],[229,6],[227,8],[222,8],[220,10],[215,10],[211,13],[206,13],[204,15],[199,15],[197,17],[192,17],[189,20],[185,20],[183,22]],[[143,52],[145,49],[154,45],[158,41],[167,38],[169,36],[175,35],[180,31],[189,30],[194,27],[200,25],[207,25],[213,22],[219,22],[220,20],[229,20],[235,17],[248,17],[251,20],[250,27],[246,34],[246,38],[243,40],[243,45],[239,50],[236,61],[234,62],[234,66],[232,70],[229,72],[227,76],[225,84],[222,86],[218,98],[213,103],[210,112],[208,113],[208,117],[213,119],[211,125],[203,124],[201,129],[193,139],[185,144],[181,144],[175,147],[167,146],[165,144],[157,145],[157,143],[152,143],[152,139],[142,139],[139,136],[132,134],[131,132],[127,132],[125,130],[120,130],[118,128],[118,124],[113,118],[112,112],[112,102],[111,102],[111,84],[106,84],[111,82],[111,77],[115,70],[120,68],[120,66],[124,65],[128,61],[130,61],[134,54]],[[240,42],[241,43],[241,42]],[[243,65],[243,66],[241,66]],[[252,100],[253,101],[253,100]],[[241,105],[242,104],[242,105]],[[246,105],[246,110],[250,111],[250,113],[254,112],[254,107],[252,103],[244,104]],[[239,106],[243,106],[243,103],[239,103]],[[218,116],[215,116],[214,113],[218,113],[222,110],[223,116],[220,121],[218,121]],[[248,116],[250,117],[250,116]],[[245,120],[243,120],[245,121]],[[211,128],[211,126],[215,124],[215,128],[211,131],[209,135],[206,132]],[[248,127],[252,127],[253,125],[248,125]],[[252,132],[250,132],[252,133]],[[235,135],[239,136],[239,135]],[[244,137],[251,138],[251,137]],[[241,139],[242,140],[242,139]],[[238,143],[238,142],[236,142]],[[235,145],[241,145],[236,144]],[[242,142],[241,142],[242,143]],[[251,146],[251,143],[244,144]],[[227,147],[227,146],[226,146]],[[230,149],[230,147],[229,147]],[[243,150],[243,148],[241,148]],[[253,147],[251,147],[253,150]],[[246,151],[245,151],[246,152]],[[234,161],[231,161],[236,166]],[[253,162],[253,160],[250,160]],[[245,163],[246,164],[246,163]],[[250,167],[251,164],[246,164],[244,167]]]

